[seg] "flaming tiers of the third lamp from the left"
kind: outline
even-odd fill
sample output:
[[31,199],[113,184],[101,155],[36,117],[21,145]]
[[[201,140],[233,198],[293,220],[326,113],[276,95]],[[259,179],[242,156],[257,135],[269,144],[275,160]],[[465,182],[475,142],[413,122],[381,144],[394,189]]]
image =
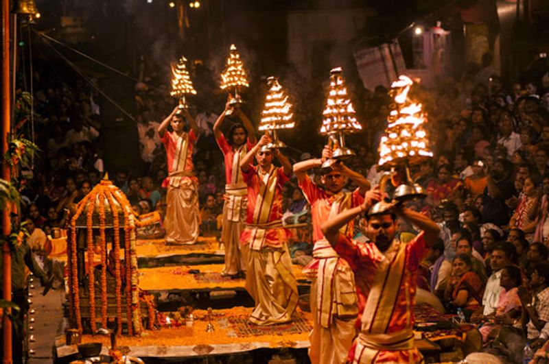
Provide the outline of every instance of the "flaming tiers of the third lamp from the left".
[[268,78],[269,90],[265,97],[265,106],[261,111],[259,131],[294,128],[292,121],[294,114],[290,111],[292,104],[288,102],[288,95],[279,84],[277,77]]

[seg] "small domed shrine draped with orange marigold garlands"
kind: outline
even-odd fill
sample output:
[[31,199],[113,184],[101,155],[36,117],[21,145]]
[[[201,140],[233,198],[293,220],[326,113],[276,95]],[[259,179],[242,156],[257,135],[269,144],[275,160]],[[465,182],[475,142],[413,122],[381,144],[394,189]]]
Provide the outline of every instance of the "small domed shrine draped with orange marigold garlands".
[[152,328],[152,300],[145,302],[139,291],[136,228],[158,223],[160,217],[158,213],[142,217],[135,215],[126,195],[106,179],[84,196],[70,217],[69,312],[80,332],[83,321],[95,332],[97,321],[106,328],[109,319],[115,319],[119,334],[123,322],[128,335],[139,334],[143,330],[142,311],[147,313],[148,328]]

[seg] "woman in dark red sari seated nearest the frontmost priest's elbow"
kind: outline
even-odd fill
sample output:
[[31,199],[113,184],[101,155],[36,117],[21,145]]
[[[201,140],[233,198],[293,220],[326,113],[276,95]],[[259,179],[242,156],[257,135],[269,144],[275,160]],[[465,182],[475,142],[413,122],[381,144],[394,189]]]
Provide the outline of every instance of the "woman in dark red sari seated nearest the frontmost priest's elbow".
[[484,282],[471,271],[471,265],[471,256],[458,254],[452,262],[452,276],[445,291],[449,311],[463,308],[466,317],[480,306],[484,295]]

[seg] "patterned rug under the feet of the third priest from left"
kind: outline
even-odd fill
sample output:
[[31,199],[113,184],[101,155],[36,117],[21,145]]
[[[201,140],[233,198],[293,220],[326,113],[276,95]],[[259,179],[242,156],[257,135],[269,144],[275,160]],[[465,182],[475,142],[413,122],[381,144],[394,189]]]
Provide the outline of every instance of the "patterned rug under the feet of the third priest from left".
[[249,315],[237,315],[229,317],[229,324],[237,337],[250,337],[262,335],[290,335],[304,334],[312,330],[310,322],[301,314],[297,313],[294,321],[288,324],[270,326],[259,326],[248,322]]

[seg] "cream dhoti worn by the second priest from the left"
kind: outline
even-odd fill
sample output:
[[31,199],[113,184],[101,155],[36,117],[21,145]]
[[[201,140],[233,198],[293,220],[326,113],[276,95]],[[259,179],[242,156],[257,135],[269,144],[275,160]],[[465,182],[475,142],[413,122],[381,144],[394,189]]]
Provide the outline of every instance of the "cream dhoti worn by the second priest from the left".
[[226,200],[223,205],[221,241],[225,247],[223,275],[234,276],[246,271],[248,246],[240,244],[240,234],[246,221],[246,184],[226,184]]

